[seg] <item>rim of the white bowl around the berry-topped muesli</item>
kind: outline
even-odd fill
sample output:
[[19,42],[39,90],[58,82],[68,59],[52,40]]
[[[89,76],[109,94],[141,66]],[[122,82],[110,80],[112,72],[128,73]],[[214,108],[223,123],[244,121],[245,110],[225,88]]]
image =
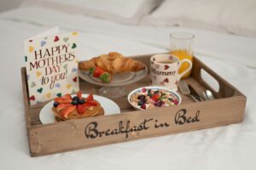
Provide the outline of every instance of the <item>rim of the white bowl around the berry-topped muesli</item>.
[[129,103],[130,103],[130,105],[131,105],[134,109],[136,109],[136,110],[143,110],[143,109],[141,109],[139,106],[133,105],[133,104],[131,103],[131,100],[130,100],[130,99],[131,99],[131,95],[132,95],[132,94],[135,94],[135,93],[138,92],[138,91],[142,91],[143,88],[146,88],[146,90],[148,90],[148,89],[166,90],[166,91],[168,91],[169,93],[171,93],[171,94],[173,94],[173,95],[175,95],[175,96],[177,97],[177,99],[178,99],[177,105],[180,105],[180,104],[181,104],[182,98],[180,97],[179,94],[177,94],[177,92],[175,92],[175,91],[173,91],[173,90],[171,90],[171,89],[169,89],[169,88],[165,88],[165,87],[160,87],[160,86],[147,86],[147,87],[142,87],[142,88],[137,88],[137,89],[135,89],[135,90],[132,90],[131,93],[130,93],[130,94],[128,95],[128,97],[127,97],[128,101],[129,101]]

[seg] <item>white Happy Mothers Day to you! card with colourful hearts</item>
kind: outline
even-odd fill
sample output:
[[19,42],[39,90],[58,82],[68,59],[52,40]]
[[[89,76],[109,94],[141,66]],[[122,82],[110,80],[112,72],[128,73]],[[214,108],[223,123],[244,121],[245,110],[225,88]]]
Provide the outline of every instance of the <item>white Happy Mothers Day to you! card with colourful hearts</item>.
[[63,94],[79,91],[77,32],[58,34],[58,29],[24,42],[29,100],[36,105]]

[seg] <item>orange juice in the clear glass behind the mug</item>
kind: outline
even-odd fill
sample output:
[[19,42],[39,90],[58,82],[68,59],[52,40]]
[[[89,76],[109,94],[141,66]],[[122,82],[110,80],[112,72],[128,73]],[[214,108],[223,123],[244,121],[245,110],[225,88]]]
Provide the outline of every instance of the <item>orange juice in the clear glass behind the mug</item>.
[[[170,52],[172,55],[176,55],[178,59],[189,59],[193,63],[193,56],[185,49],[177,49]],[[183,71],[187,70],[189,68],[189,63],[184,62],[183,65],[178,70],[178,73],[181,74]],[[182,78],[189,77],[191,74],[191,71],[189,71],[187,74],[185,74]]]

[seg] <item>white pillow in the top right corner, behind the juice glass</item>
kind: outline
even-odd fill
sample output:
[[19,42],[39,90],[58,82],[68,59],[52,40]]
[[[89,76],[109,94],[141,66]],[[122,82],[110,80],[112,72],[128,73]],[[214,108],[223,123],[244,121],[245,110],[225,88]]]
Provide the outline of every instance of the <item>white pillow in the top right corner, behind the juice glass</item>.
[[166,0],[141,25],[189,26],[256,37],[256,1]]

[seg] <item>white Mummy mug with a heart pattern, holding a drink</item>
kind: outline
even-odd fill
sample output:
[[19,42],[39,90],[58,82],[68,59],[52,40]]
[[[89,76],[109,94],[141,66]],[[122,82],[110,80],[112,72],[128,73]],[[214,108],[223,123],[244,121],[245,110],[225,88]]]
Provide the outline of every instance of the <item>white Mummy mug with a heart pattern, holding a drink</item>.
[[[189,68],[178,74],[180,65],[189,63]],[[150,58],[150,82],[154,86],[163,86],[177,91],[177,83],[184,74],[192,69],[189,59],[179,60],[172,54],[156,54]]]

